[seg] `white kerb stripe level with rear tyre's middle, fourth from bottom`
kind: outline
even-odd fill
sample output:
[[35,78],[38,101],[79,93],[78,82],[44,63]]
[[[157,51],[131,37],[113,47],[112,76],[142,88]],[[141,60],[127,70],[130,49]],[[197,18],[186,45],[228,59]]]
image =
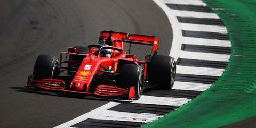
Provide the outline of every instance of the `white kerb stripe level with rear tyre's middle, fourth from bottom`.
[[221,76],[225,69],[216,69],[210,67],[193,67],[177,65],[177,73],[179,74],[193,74],[206,76]]

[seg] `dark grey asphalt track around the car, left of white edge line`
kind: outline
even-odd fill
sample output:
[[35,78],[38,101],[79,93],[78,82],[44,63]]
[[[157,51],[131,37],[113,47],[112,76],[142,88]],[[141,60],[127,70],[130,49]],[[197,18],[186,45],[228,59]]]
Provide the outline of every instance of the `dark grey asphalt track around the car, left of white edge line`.
[[[169,55],[172,28],[153,1],[2,1],[0,127],[54,127],[108,103],[23,88],[38,55],[97,44],[105,29],[157,36],[158,54]],[[145,50],[133,46],[132,53],[142,58]]]

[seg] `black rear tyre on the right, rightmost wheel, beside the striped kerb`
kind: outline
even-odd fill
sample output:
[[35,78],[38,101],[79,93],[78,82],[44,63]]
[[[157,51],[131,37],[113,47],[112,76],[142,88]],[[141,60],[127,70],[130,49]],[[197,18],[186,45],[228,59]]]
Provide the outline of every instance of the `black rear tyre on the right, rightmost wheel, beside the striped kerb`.
[[158,84],[159,89],[170,90],[176,76],[176,62],[173,57],[154,55],[149,63],[149,81]]

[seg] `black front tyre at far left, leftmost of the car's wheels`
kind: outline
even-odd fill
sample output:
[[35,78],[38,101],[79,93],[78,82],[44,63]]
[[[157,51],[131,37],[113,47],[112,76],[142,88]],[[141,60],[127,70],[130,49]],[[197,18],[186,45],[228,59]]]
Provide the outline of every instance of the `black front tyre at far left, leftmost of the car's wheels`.
[[59,61],[56,56],[51,55],[39,55],[36,59],[36,63],[34,66],[34,80],[38,79],[52,79],[59,75],[57,66]]

